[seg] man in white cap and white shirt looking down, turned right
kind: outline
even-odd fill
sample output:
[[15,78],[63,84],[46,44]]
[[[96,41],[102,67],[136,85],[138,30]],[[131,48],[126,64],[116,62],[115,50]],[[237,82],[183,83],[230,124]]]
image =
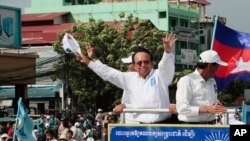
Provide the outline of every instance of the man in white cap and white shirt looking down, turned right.
[[176,109],[178,119],[187,124],[215,124],[216,114],[226,112],[217,99],[217,85],[213,78],[218,67],[228,64],[221,61],[214,50],[200,54],[196,70],[183,76],[177,83]]

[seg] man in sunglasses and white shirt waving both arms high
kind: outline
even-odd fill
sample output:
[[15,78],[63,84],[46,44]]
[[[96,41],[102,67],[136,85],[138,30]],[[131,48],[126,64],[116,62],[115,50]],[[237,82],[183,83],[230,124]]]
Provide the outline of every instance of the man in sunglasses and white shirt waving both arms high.
[[[174,72],[174,55],[171,53],[175,35],[167,34],[163,40],[164,53],[158,64],[158,69],[153,69],[153,57],[145,48],[138,48],[133,56],[133,64],[136,72],[121,72],[108,67],[99,60],[90,60],[93,47],[86,46],[88,57],[77,55],[77,59],[88,65],[103,80],[109,81],[117,87],[127,91],[130,104],[124,104],[126,108],[136,109],[163,109],[169,108],[168,86],[171,83]],[[161,123],[171,116],[170,113],[138,113],[133,118],[138,123]]]

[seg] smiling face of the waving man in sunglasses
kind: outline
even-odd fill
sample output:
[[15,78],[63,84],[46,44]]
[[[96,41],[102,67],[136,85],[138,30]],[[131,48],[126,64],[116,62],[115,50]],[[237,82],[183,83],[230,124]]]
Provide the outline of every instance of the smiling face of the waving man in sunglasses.
[[142,78],[146,78],[152,69],[150,55],[145,52],[138,52],[134,56],[134,67]]

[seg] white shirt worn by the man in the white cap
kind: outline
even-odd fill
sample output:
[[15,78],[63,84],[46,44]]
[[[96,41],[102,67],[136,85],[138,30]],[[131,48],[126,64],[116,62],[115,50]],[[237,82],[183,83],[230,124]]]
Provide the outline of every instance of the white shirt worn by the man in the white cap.
[[184,122],[214,120],[214,114],[199,113],[199,107],[210,106],[218,102],[217,95],[214,78],[205,81],[197,70],[182,77],[177,84],[176,92],[178,119]]

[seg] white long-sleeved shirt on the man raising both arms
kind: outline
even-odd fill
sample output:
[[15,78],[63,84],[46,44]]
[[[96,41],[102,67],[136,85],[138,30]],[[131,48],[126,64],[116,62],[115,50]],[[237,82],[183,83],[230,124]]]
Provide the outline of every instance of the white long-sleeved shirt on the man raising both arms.
[[[146,79],[141,78],[137,72],[121,72],[99,60],[91,61],[88,67],[103,80],[126,91],[125,96],[131,100],[129,104],[126,104],[127,108],[164,109],[170,105],[168,86],[175,72],[173,54],[164,52],[158,69],[152,69]],[[159,122],[169,116],[168,113],[133,114],[136,121],[143,123]]]

